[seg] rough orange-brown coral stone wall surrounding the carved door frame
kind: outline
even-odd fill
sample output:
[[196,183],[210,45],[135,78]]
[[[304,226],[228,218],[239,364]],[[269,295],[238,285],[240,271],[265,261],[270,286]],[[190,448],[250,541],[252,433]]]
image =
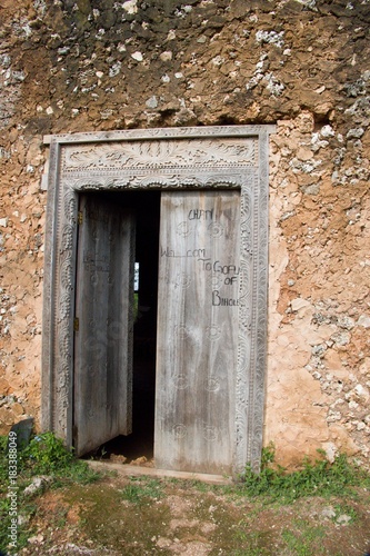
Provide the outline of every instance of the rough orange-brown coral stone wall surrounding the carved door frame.
[[1,0],[0,431],[40,417],[46,133],[278,123],[264,441],[370,455],[369,0]]

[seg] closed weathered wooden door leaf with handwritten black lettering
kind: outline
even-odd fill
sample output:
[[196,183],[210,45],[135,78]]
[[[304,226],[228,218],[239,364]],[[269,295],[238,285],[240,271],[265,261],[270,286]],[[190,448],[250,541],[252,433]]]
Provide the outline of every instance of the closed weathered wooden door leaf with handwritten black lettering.
[[239,228],[239,191],[161,195],[157,467],[232,469]]

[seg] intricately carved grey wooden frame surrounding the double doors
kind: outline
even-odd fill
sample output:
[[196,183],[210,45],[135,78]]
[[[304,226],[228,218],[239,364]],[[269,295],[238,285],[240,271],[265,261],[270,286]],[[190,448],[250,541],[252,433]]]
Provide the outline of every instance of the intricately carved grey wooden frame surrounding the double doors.
[[72,445],[78,196],[82,191],[240,190],[234,473],[260,466],[268,295],[268,146],[274,126],[48,136],[41,426]]

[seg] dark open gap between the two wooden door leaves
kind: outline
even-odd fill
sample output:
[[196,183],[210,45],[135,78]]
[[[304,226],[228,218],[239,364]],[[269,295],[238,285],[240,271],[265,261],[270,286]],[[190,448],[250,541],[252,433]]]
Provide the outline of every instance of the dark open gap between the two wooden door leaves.
[[[99,196],[134,215],[134,284],[133,284],[133,338],[132,338],[132,433],[119,435],[86,456],[112,458],[124,456],[127,463],[139,457],[150,461],[153,457],[158,252],[160,191],[123,191],[88,193]],[[113,237],[113,241],[119,238]],[[111,346],[114,349],[114,346]]]

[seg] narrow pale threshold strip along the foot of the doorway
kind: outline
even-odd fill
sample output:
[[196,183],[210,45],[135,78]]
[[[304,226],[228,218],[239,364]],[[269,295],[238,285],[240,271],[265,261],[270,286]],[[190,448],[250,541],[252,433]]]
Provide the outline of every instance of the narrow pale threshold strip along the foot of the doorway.
[[87,459],[88,465],[96,470],[117,471],[119,475],[139,477],[171,477],[176,479],[201,480],[211,485],[232,485],[232,478],[223,475],[209,475],[207,473],[174,471],[170,469],[157,469],[156,467],[141,467],[138,465],[114,464],[110,461],[96,461]]

